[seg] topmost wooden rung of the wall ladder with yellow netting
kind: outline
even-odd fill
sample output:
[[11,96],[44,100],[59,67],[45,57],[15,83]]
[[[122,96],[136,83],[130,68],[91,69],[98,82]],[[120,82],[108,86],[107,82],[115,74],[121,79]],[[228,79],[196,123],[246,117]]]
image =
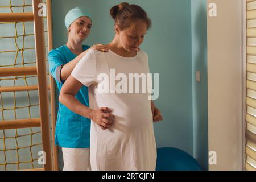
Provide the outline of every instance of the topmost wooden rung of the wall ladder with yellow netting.
[[32,22],[33,13],[0,13],[0,22]]

